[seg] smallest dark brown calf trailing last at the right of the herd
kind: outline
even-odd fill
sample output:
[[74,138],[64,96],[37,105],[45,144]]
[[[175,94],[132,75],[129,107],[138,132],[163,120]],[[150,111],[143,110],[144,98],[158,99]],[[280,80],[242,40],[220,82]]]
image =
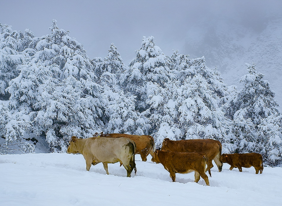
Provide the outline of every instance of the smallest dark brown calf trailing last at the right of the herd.
[[222,154],[220,159],[224,163],[231,165],[229,170],[232,170],[234,167],[239,169],[239,172],[242,172],[242,167],[254,167],[256,174],[262,174],[263,165],[262,165],[262,155],[259,153],[245,153],[245,154]]

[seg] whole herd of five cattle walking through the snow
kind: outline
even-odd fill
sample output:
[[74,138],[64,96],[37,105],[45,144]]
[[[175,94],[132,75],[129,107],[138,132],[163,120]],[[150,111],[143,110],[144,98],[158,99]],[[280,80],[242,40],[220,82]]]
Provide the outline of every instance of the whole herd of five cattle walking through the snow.
[[67,149],[68,154],[80,153],[86,161],[86,170],[91,165],[103,163],[106,173],[108,163],[120,162],[120,166],[126,169],[127,177],[132,171],[137,172],[135,154],[140,154],[142,161],[147,161],[147,156],[152,156],[152,162],[161,163],[166,169],[172,181],[175,182],[175,173],[195,172],[195,182],[202,177],[209,185],[208,171],[213,167],[212,161],[216,163],[218,171],[221,172],[223,163],[230,165],[242,172],[242,167],[254,167],[256,174],[262,173],[262,155],[258,153],[246,154],[221,154],[222,146],[218,140],[192,139],[192,140],[170,140],[165,138],[161,149],[155,150],[153,137],[150,135],[128,135],[128,134],[103,134],[95,133],[92,138],[80,139],[73,136]]

